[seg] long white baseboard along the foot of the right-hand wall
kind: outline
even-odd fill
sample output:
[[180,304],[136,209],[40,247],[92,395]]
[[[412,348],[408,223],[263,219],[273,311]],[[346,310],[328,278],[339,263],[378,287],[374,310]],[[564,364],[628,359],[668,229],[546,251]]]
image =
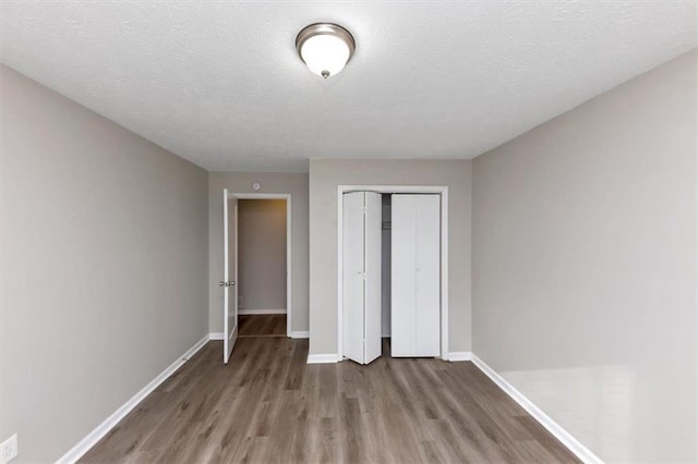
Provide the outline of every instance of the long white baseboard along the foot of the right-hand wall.
[[569,451],[571,451],[577,457],[585,463],[603,463],[594,453],[592,453],[587,447],[581,444],[575,437],[573,437],[567,430],[562,428],[559,424],[551,419],[547,414],[540,410],[531,400],[526,398],[514,386],[507,382],[502,376],[500,376],[493,368],[488,366],[482,359],[474,354],[471,355],[472,364],[478,366],[485,376],[490,377],[497,387],[500,387],[506,394],[508,394],[514,401],[516,401],[521,407],[526,410],[535,420],[538,420],[553,437],[558,439]]

